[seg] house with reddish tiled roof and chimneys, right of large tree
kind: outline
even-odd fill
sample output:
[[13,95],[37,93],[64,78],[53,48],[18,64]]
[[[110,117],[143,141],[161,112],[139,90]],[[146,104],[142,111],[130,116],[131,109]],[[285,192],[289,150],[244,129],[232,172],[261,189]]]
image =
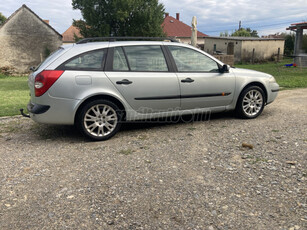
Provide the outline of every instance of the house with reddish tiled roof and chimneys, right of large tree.
[[[192,21],[192,18],[191,18]],[[176,18],[165,14],[162,28],[167,37],[175,37],[183,43],[191,43],[192,27],[180,21],[180,14],[176,14]],[[202,48],[204,45],[204,37],[208,35],[197,31],[197,44]]]

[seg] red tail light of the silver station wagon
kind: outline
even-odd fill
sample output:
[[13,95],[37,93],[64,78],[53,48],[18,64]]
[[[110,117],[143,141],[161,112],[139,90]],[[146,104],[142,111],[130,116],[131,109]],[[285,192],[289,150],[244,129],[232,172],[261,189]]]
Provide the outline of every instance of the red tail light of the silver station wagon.
[[44,70],[37,74],[34,81],[35,96],[42,96],[63,73],[63,70]]

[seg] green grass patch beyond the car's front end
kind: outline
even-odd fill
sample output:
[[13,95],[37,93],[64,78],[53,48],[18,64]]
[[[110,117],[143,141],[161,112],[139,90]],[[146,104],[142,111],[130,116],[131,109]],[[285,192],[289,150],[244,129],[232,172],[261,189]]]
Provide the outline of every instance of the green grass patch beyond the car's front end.
[[252,69],[271,74],[275,77],[280,87],[284,89],[307,88],[307,68],[285,67],[293,59],[284,59],[279,63],[269,62],[264,64],[237,64],[235,67]]

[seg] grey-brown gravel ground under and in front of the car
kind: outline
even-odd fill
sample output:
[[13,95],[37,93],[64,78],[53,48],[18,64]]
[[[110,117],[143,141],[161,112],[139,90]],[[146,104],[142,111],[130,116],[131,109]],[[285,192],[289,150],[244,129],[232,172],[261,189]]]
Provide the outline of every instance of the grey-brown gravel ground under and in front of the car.
[[307,89],[254,120],[126,124],[105,142],[0,125],[2,230],[307,229]]

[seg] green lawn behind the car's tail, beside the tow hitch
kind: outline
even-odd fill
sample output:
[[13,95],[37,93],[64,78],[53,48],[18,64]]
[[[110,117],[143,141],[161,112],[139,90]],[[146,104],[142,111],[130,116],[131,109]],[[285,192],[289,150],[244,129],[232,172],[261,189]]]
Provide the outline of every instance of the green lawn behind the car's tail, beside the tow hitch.
[[30,100],[28,77],[11,77],[0,74],[0,117],[20,114]]

